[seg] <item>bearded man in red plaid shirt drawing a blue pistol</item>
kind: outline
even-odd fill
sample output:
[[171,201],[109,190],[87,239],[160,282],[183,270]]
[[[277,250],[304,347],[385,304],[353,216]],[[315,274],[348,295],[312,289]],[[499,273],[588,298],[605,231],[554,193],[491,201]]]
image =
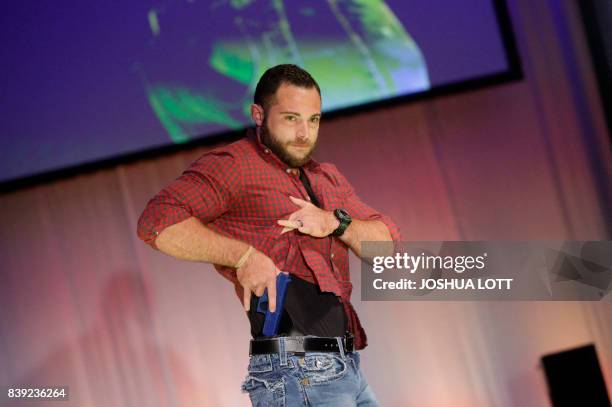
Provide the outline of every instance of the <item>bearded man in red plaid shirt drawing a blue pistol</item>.
[[[349,302],[348,248],[399,240],[332,164],[311,158],[321,119],[315,80],[295,65],[267,70],[255,90],[255,132],[204,154],[159,192],[141,239],[179,259],[213,263],[235,285],[251,334],[243,391],[253,405],[376,405],[359,367],[366,335]],[[279,335],[263,336],[258,297],[276,309],[291,274]]]

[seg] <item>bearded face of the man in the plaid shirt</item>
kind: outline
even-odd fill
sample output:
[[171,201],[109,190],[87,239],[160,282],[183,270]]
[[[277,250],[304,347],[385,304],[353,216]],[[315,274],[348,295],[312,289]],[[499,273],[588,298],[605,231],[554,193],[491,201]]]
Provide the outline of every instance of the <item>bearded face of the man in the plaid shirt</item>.
[[320,120],[315,88],[282,84],[264,112],[262,142],[290,167],[301,167],[317,145]]

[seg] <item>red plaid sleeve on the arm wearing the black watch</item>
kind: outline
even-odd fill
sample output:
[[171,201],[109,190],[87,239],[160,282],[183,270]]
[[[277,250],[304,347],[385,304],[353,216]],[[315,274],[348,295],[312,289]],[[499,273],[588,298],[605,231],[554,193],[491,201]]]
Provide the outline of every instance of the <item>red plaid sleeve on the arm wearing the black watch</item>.
[[391,239],[394,244],[397,245],[397,242],[402,240],[402,235],[395,224],[391,220],[391,218],[387,215],[384,215],[372,207],[365,204],[359,196],[355,193],[355,189],[348,182],[348,180],[340,173],[340,171],[333,164],[328,164],[329,170],[333,174],[336,182],[338,183],[338,188],[342,191],[342,194],[345,196],[344,201],[344,209],[351,215],[353,219],[359,220],[378,220],[384,223],[389,230],[389,234],[391,235]]

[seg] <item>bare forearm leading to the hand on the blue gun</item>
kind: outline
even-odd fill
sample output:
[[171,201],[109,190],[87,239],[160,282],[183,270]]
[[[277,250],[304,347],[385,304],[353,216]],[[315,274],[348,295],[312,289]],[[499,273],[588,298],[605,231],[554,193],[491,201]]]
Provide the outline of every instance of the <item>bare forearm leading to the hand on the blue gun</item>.
[[249,245],[223,236],[194,217],[165,228],[155,239],[157,248],[182,260],[234,267]]

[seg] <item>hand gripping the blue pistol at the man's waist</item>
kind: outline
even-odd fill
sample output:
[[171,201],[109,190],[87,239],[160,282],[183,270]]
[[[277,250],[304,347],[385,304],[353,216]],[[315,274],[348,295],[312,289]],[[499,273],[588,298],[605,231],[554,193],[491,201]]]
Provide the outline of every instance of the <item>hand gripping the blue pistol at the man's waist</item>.
[[276,267],[272,259],[255,250],[246,263],[240,267],[236,276],[244,291],[244,309],[248,311],[251,307],[251,293],[261,297],[264,290],[268,289],[268,309],[276,311],[276,276],[281,271]]

